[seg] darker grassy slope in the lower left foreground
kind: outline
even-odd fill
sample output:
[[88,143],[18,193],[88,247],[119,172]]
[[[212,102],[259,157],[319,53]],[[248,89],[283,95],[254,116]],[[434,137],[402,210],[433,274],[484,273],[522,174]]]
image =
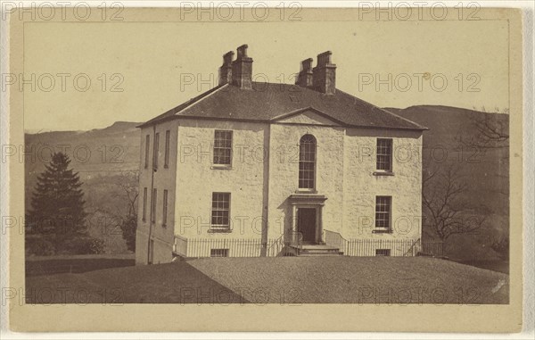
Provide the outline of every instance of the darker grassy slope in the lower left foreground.
[[185,261],[27,277],[26,291],[27,303],[246,302]]

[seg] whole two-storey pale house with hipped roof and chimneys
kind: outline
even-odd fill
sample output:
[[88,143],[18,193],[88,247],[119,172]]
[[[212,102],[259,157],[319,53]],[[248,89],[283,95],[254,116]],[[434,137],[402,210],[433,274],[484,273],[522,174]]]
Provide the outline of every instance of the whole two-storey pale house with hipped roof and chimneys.
[[424,127],[335,87],[331,53],[295,85],[219,85],[140,125],[136,263],[176,256],[414,255]]

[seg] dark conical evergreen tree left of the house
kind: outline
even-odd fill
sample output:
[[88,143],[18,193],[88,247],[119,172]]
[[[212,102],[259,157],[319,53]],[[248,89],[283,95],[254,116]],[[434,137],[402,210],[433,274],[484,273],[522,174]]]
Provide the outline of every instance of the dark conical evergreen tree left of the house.
[[69,169],[70,159],[54,153],[46,170],[37,177],[27,220],[29,234],[44,236],[56,250],[86,235],[86,211],[78,172]]

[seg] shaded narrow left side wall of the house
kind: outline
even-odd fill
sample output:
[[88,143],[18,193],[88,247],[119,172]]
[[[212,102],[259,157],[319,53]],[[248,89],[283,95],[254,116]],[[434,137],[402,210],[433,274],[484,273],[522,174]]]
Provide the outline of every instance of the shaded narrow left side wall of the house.
[[[169,159],[166,164],[166,134],[169,131]],[[154,163],[154,140],[159,134],[158,160]],[[145,167],[145,143],[149,136],[149,156]],[[167,121],[141,129],[139,196],[136,232],[136,263],[165,263],[173,259],[177,178],[177,121]],[[146,198],[144,192],[146,188]],[[152,210],[153,190],[156,189]],[[164,218],[164,191],[167,216]],[[145,213],[144,213],[145,211]],[[145,216],[144,216],[145,215]],[[164,222],[165,221],[165,222]],[[151,242],[152,240],[152,252]],[[152,253],[152,254],[150,254]]]

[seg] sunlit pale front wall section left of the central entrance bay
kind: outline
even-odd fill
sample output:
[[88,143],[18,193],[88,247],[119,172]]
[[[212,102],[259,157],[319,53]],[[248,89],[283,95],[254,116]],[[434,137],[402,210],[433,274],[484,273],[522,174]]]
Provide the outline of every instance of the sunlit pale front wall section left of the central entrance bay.
[[[232,130],[233,156],[230,167],[213,164],[215,130]],[[229,249],[237,239],[251,240],[249,253],[260,255],[266,220],[268,124],[179,120],[177,149],[177,216],[175,234],[188,239],[187,256],[210,256],[210,248]],[[230,193],[228,232],[210,230],[212,193]],[[211,244],[207,240],[211,240]],[[218,244],[216,244],[218,242]]]

